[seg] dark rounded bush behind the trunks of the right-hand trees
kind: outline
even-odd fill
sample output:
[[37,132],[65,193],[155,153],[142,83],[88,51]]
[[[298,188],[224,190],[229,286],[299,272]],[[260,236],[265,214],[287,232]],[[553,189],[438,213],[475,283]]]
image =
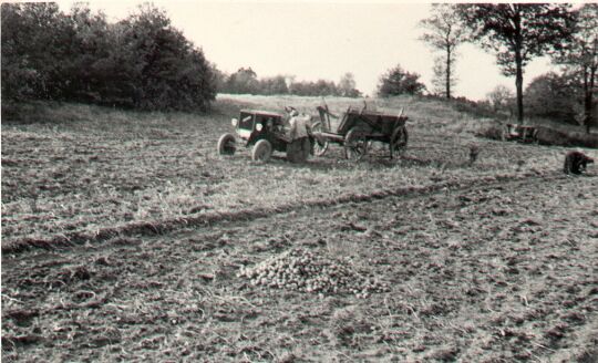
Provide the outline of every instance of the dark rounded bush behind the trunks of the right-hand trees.
[[579,87],[574,76],[549,72],[535,77],[525,90],[529,114],[576,124]]

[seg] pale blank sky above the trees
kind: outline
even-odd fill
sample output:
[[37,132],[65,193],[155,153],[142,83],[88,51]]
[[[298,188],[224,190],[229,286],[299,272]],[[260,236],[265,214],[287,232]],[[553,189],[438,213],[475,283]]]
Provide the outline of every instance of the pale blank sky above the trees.
[[[59,1],[68,11],[70,1]],[[90,1],[111,21],[136,10],[137,1]],[[357,87],[373,94],[380,75],[401,64],[421,74],[431,90],[434,54],[417,38],[417,24],[429,17],[429,3],[392,1],[153,1],[165,10],[218,69],[233,73],[250,66],[258,77],[296,75],[299,81],[324,79],[338,82],[354,74]],[[458,49],[455,95],[481,100],[496,85],[514,90],[515,80],[501,75],[494,54],[472,44]],[[534,76],[556,70],[547,59],[526,69]]]

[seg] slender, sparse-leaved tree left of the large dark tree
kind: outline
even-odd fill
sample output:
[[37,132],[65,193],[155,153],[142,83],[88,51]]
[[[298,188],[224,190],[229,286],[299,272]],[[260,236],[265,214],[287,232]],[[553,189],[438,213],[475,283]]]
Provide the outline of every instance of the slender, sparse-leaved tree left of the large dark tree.
[[444,84],[443,93],[446,98],[451,98],[451,90],[456,83],[454,76],[456,48],[465,41],[461,17],[453,4],[433,4],[431,17],[422,20],[421,25],[427,32],[420,39],[435,51],[444,53],[441,58],[436,58],[434,64],[434,85],[439,87],[440,84]]

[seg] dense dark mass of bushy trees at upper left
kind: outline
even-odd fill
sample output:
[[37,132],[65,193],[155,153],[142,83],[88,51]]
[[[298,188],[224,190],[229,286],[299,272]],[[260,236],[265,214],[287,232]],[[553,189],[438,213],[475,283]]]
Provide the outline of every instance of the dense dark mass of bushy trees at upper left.
[[161,10],[109,23],[75,4],[2,3],[2,102],[54,100],[138,110],[206,110],[213,66]]

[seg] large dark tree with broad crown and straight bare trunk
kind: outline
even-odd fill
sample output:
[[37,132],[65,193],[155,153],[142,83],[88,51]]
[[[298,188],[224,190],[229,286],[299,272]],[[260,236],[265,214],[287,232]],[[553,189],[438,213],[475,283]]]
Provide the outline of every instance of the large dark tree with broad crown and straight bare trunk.
[[534,56],[561,46],[569,37],[573,13],[568,4],[460,4],[457,11],[472,38],[497,53],[505,75],[515,75],[517,117],[524,118],[523,74]]

